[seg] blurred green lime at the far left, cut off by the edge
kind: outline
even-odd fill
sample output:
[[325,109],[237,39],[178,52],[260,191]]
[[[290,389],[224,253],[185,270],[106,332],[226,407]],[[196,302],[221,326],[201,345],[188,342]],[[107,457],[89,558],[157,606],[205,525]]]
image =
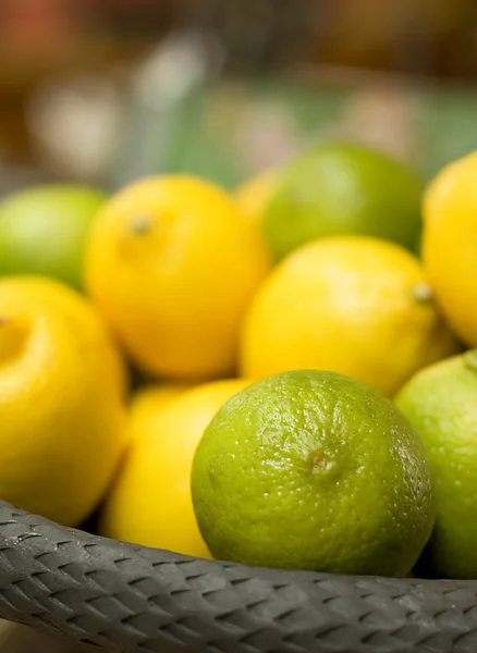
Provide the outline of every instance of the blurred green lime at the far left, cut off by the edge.
[[0,274],[39,274],[82,287],[83,250],[107,196],[75,185],[36,186],[0,201]]

